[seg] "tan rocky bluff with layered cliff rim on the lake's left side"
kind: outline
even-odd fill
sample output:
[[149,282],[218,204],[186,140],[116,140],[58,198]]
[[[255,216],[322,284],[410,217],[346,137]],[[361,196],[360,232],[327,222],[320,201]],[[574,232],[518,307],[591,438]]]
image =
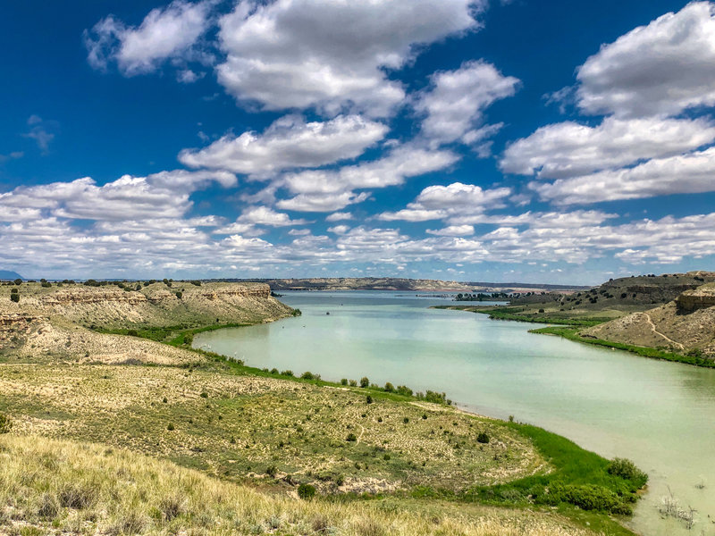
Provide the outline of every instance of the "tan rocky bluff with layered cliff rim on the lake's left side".
[[187,327],[212,323],[255,323],[290,314],[290,307],[271,297],[265,284],[162,282],[140,289],[113,286],[19,287],[20,301],[0,289],[0,314],[25,314],[86,327]]

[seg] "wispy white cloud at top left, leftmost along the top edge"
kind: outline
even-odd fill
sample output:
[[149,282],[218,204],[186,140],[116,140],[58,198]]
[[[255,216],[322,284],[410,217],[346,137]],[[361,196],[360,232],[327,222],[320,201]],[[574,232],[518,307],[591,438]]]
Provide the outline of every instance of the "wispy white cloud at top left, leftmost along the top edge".
[[[115,61],[126,76],[156,71],[169,58],[186,58],[210,26],[214,0],[175,0],[150,11],[139,28],[125,25],[109,15],[85,30],[89,64],[105,70]],[[187,80],[182,80],[187,81]]]

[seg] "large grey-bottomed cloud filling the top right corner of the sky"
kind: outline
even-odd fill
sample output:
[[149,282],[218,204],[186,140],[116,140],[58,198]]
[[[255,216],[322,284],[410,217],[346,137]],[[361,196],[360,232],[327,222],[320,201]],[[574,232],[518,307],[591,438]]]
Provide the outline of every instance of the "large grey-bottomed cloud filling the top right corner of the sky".
[[715,4],[693,2],[629,31],[601,46],[576,78],[585,113],[664,116],[715,105]]

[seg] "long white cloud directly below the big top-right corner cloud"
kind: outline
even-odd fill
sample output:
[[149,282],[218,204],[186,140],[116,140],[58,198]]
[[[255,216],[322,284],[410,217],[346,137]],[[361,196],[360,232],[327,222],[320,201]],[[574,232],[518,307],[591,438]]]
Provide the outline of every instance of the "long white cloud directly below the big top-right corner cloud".
[[647,158],[679,155],[715,140],[715,125],[699,119],[604,119],[589,127],[567,121],[547,125],[504,151],[502,172],[539,179],[584,175]]

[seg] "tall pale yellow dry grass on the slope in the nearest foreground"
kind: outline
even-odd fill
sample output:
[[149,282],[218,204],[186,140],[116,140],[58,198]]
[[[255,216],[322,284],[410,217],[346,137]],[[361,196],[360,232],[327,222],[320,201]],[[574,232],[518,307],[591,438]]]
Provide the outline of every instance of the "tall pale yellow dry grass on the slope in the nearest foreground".
[[0,437],[0,533],[557,536],[557,515],[474,510],[421,515],[379,503],[273,497],[127,450]]

